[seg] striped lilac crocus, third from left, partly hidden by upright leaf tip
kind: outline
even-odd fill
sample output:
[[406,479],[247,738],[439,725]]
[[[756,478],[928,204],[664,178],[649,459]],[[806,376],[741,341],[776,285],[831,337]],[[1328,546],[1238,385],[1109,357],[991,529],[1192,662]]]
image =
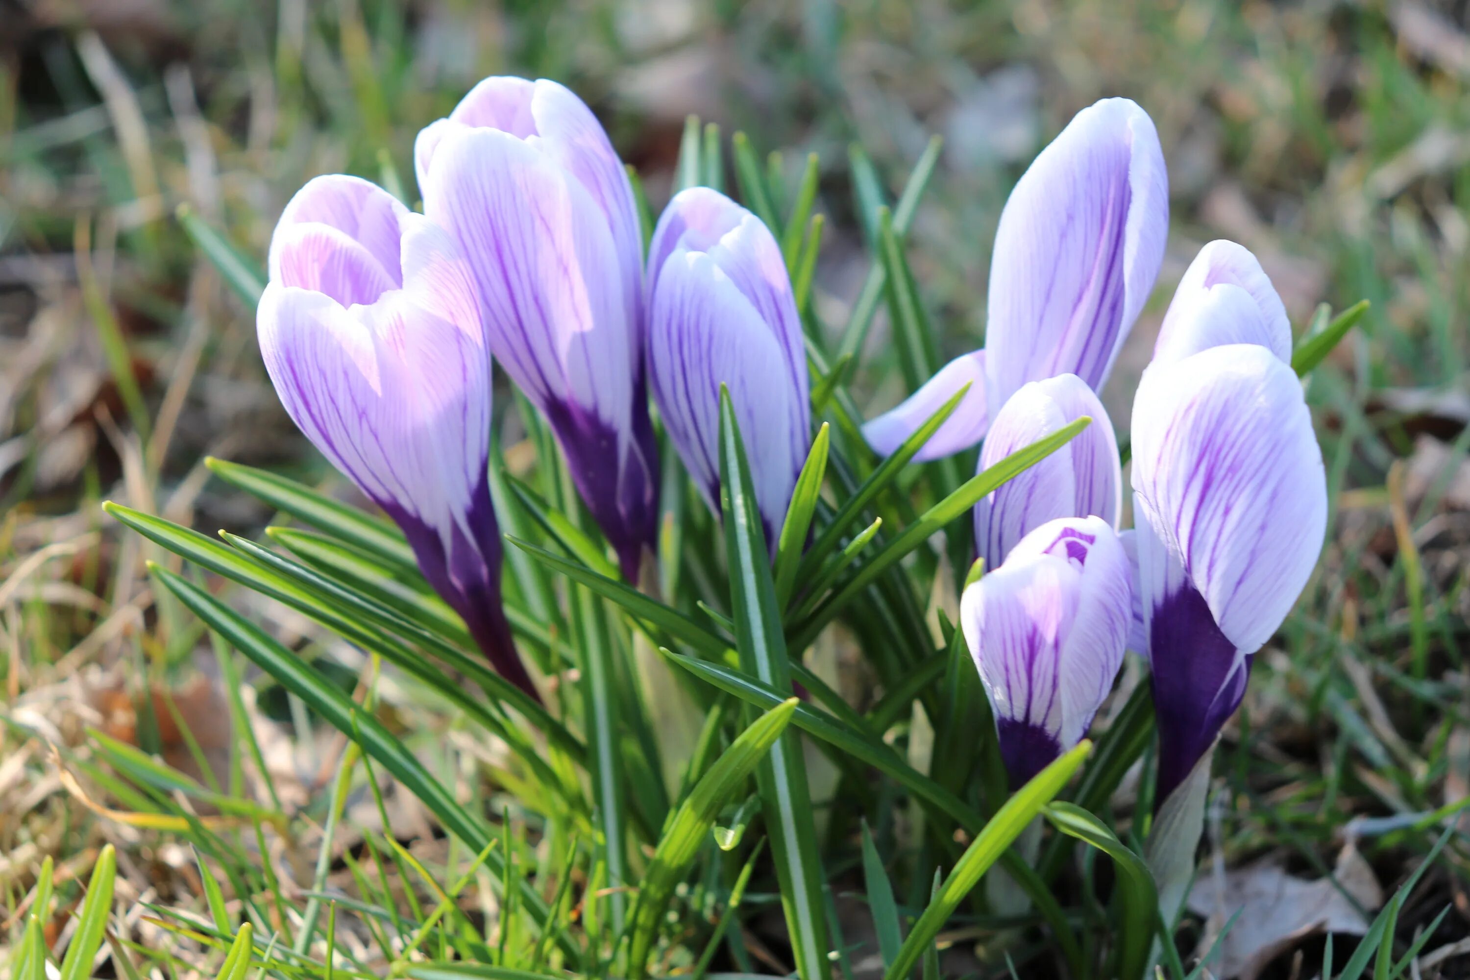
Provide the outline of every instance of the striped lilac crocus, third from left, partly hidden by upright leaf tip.
[[806,347],[781,247],[719,191],[681,191],[648,248],[648,310],[653,395],[679,457],[717,511],[726,385],[775,547],[811,445]]

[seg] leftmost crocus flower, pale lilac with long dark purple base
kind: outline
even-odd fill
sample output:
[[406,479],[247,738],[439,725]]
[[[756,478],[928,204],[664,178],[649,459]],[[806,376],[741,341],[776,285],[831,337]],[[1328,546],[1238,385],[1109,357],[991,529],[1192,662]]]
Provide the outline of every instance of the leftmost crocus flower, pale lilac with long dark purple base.
[[397,522],[494,667],[535,696],[500,604],[479,313],[442,229],[379,187],[334,175],[281,215],[256,326],[295,425]]

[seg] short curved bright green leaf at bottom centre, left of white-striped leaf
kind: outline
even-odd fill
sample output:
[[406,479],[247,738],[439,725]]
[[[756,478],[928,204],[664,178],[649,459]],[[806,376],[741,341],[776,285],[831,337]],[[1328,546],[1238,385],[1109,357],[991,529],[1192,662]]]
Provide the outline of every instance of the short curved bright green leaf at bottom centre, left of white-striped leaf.
[[766,758],[772,745],[786,730],[797,704],[800,704],[797,698],[789,698],[751,721],[689,790],[664,829],[653,861],[638,886],[628,955],[628,970],[634,980],[647,976],[648,954],[675,886],[694,864],[720,810],[745,785],[756,765]]

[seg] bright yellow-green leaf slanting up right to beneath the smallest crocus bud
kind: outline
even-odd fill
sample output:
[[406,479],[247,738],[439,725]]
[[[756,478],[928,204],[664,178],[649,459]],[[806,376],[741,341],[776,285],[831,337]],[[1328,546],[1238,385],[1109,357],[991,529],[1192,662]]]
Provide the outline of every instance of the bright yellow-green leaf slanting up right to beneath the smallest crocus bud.
[[1044,768],[1035,779],[1022,786],[1016,793],[1005,801],[1005,805],[995,811],[995,815],[985,824],[985,829],[975,837],[975,842],[966,848],[964,854],[956,862],[954,870],[944,880],[939,887],[939,895],[919,917],[914,923],[913,932],[908,933],[908,939],[904,940],[903,948],[898,951],[894,962],[888,965],[883,973],[883,980],[906,980],[910,970],[923,955],[923,951],[933,942],[939,930],[950,920],[950,915],[964,896],[970,893],[979,882],[980,877],[991,868],[992,864],[1005,852],[1005,849],[1020,836],[1020,832],[1026,829],[1042,807],[1055,798],[1061,788],[1067,785],[1072,774],[1086,758],[1088,751],[1092,748],[1091,742],[1082,741],[1070,752],[1061,755]]

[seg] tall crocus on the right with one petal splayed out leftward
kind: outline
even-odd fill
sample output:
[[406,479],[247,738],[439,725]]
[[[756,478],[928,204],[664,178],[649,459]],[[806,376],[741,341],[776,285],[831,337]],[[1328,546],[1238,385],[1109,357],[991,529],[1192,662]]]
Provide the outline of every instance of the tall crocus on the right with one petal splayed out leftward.
[[983,359],[964,354],[869,422],[869,444],[892,453],[964,382],[969,392],[916,460],[979,442],[1028,382],[1076,375],[1101,391],[1154,288],[1167,231],[1169,178],[1148,113],[1127,98],[1079,112],[1001,212]]

